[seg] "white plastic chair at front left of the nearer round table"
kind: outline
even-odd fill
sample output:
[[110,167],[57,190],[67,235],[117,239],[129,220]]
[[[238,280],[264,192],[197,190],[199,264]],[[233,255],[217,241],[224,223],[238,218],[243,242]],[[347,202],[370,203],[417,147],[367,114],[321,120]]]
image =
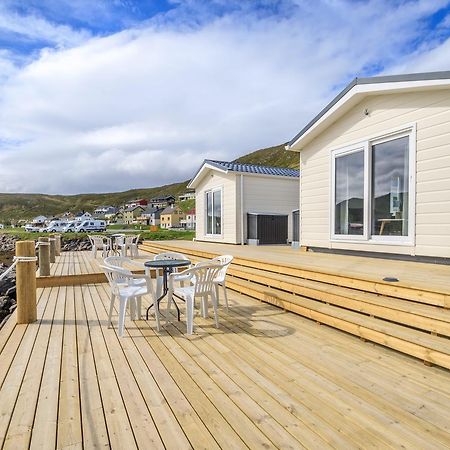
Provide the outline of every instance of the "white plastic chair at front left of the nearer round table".
[[[142,296],[150,294],[153,300],[156,318],[156,329],[160,329],[159,308],[150,277],[146,275],[133,275],[129,270],[113,267],[100,266],[108,279],[111,287],[111,304],[108,314],[108,327],[112,323],[112,313],[116,297],[119,298],[119,336],[123,336],[125,327],[125,313],[130,303],[130,316],[133,320],[141,318]],[[142,283],[144,280],[145,283]],[[137,309],[137,314],[136,314]],[[136,317],[137,316],[137,317]]]

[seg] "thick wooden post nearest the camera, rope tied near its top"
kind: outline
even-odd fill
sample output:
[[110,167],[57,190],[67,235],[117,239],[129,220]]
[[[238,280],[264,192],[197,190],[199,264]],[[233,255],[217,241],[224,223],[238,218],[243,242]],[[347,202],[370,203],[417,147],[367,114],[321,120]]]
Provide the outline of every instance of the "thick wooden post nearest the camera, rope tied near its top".
[[[16,256],[35,256],[34,241],[17,241]],[[16,266],[17,323],[37,319],[36,261],[19,261]]]

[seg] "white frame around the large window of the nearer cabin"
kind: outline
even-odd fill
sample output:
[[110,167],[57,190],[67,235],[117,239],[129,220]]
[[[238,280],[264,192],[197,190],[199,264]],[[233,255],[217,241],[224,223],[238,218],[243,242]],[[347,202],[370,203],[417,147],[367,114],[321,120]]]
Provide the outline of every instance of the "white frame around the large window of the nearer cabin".
[[[331,183],[330,183],[330,241],[345,243],[364,243],[370,245],[398,245],[414,246],[416,235],[416,124],[406,125],[397,129],[389,130],[379,136],[372,136],[358,143],[335,149],[331,152]],[[375,144],[388,142],[401,137],[409,137],[409,197],[408,197],[408,236],[378,236],[370,234],[371,215],[371,147]],[[364,151],[364,231],[358,235],[337,235],[335,228],[335,160],[337,157]]]

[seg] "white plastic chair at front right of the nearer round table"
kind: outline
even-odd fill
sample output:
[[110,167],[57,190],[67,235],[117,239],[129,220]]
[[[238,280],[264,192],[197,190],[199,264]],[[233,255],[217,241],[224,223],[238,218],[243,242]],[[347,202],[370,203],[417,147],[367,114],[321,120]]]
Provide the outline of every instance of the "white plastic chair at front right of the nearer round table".
[[[216,327],[219,328],[218,304],[214,279],[217,278],[221,268],[222,266],[217,263],[201,263],[197,264],[195,267],[186,269],[183,272],[171,273],[169,276],[169,292],[167,294],[166,321],[169,317],[173,296],[176,295],[181,297],[186,302],[187,334],[192,334],[194,331],[195,299],[197,297],[201,298],[203,317],[206,317],[208,312],[208,297],[211,297],[214,309],[214,320]],[[175,283],[180,280],[189,281],[189,286],[175,286]]]

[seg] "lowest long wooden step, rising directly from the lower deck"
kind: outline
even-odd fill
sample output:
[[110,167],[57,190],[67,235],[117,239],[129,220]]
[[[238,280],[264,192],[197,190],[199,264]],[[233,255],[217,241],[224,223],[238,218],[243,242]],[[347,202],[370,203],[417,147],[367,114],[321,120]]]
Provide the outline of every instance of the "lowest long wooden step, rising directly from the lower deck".
[[450,341],[445,337],[432,336],[236,277],[227,280],[227,287],[319,323],[450,369]]

